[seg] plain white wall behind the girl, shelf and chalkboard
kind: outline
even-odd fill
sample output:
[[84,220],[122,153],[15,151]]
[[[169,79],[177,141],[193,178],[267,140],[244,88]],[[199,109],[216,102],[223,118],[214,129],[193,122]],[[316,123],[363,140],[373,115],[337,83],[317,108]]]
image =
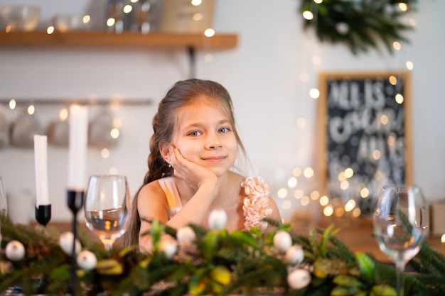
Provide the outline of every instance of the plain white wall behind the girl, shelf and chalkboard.
[[[0,4],[6,2],[19,0],[1,0]],[[65,9],[83,13],[93,9],[93,3],[93,10],[98,9],[97,0],[61,2],[40,1],[43,18]],[[430,200],[444,199],[445,101],[441,82],[445,79],[445,31],[439,28],[444,23],[445,1],[419,2],[414,14],[417,28],[408,35],[412,43],[393,56],[385,52],[354,56],[343,45],[318,44],[311,32],[302,31],[298,6],[296,0],[218,1],[215,30],[237,33],[239,44],[233,50],[211,52],[212,62],[203,61],[208,53],[205,50],[197,58],[197,77],[218,81],[230,91],[242,139],[272,194],[285,185],[292,168],[313,165],[317,102],[309,98],[308,91],[317,86],[319,72],[403,70],[404,62],[412,60],[414,181]],[[314,54],[321,57],[320,65],[311,63]],[[309,82],[301,82],[301,72],[309,74]],[[122,138],[110,158],[102,160],[94,148],[88,154],[88,175],[107,172],[113,166],[127,175],[132,192],[146,171],[156,104],[176,80],[186,78],[185,50],[0,48],[0,97],[154,99],[152,106],[127,106],[117,111]],[[38,109],[43,126],[56,118],[58,109]],[[92,108],[90,115],[98,111]],[[14,119],[18,110],[5,113]],[[306,119],[305,128],[297,127],[300,118]],[[70,219],[65,206],[67,156],[65,148],[48,149],[54,220]],[[33,219],[33,150],[0,150],[0,175],[6,190],[14,194],[11,214],[17,219]],[[284,216],[290,213],[283,211]]]

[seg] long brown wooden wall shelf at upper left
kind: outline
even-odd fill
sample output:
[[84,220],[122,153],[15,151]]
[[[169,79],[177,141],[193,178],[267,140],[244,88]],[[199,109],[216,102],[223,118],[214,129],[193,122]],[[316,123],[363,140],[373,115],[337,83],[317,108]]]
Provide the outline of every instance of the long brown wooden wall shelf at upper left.
[[43,31],[0,32],[0,47],[112,47],[112,48],[193,48],[226,50],[235,48],[237,35],[220,34],[205,37],[191,33],[105,33],[73,31],[48,35]]

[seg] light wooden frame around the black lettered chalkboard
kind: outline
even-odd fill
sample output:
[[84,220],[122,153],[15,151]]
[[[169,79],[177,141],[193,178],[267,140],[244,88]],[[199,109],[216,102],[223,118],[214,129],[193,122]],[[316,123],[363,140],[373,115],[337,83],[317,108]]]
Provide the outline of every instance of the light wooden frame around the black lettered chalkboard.
[[409,72],[321,72],[318,77],[317,126],[316,126],[316,167],[323,192],[328,194],[328,83],[329,80],[378,80],[390,76],[402,77],[402,95],[404,97],[404,143],[406,185],[413,185],[412,172],[412,120],[411,120],[411,81]]

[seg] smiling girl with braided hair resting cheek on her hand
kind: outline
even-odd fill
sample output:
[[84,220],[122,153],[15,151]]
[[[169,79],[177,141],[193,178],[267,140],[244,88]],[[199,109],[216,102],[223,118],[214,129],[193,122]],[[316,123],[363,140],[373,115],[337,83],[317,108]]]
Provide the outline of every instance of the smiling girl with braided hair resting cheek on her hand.
[[180,81],[167,92],[153,119],[149,171],[133,201],[137,218],[132,219],[126,244],[151,249],[149,236],[139,236],[151,224],[140,217],[175,229],[188,224],[208,227],[210,212],[223,209],[227,231],[254,226],[264,231],[266,216],[281,222],[264,181],[235,172],[246,158],[232,109],[229,93],[216,82]]

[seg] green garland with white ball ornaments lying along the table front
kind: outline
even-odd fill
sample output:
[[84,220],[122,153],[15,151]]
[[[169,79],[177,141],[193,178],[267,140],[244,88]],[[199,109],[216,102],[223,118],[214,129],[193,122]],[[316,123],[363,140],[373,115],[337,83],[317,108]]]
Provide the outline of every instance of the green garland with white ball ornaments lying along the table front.
[[[395,269],[351,252],[332,226],[300,236],[267,221],[276,230],[262,236],[255,228],[228,232],[213,216],[210,230],[154,221],[150,254],[136,246],[109,254],[81,232],[77,242],[70,232],[56,238],[6,221],[0,291],[65,295],[76,258],[77,295],[396,295]],[[410,264],[417,273],[406,276],[407,295],[445,294],[440,253],[425,243]]]

